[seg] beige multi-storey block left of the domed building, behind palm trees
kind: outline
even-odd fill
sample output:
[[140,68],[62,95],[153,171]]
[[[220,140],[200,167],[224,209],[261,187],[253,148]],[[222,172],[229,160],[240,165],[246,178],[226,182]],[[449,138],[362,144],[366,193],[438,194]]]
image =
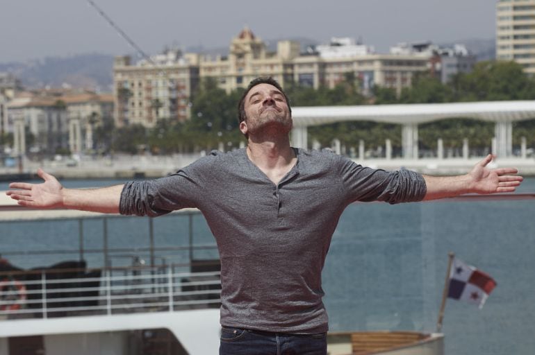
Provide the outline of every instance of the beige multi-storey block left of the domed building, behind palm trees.
[[115,58],[113,67],[115,124],[154,127],[158,119],[190,117],[190,97],[199,83],[199,55],[167,49],[131,64]]

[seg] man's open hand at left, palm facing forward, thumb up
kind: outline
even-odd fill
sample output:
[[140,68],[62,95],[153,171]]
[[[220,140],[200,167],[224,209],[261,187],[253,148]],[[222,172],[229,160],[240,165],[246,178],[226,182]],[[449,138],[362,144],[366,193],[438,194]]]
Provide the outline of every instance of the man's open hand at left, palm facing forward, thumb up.
[[37,174],[44,180],[41,184],[27,182],[12,182],[6,195],[17,200],[17,203],[26,207],[56,208],[63,207],[63,186],[49,173],[41,168]]

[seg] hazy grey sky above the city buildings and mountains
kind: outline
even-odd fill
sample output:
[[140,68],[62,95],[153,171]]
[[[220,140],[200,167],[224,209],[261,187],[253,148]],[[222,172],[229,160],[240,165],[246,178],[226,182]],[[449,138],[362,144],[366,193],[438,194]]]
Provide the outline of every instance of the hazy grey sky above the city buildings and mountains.
[[[145,52],[228,46],[241,28],[263,40],[361,37],[397,42],[495,36],[494,0],[94,0]],[[132,53],[87,0],[1,0],[0,63],[78,53]]]

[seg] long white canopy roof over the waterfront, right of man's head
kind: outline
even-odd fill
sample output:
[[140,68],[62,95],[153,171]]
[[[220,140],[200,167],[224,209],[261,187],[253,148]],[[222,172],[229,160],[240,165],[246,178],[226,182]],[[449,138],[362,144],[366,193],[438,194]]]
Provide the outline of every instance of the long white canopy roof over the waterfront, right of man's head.
[[453,118],[493,122],[522,121],[535,119],[535,101],[294,107],[292,116],[296,127],[340,121],[375,121],[400,124],[426,123]]

